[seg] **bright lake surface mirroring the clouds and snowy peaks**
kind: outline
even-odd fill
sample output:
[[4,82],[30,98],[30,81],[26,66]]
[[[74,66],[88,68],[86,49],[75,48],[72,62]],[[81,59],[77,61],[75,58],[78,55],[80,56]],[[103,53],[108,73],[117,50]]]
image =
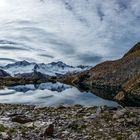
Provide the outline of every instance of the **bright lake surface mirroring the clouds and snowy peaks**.
[[102,99],[90,92],[80,92],[77,88],[61,83],[21,85],[0,91],[0,103],[19,103],[40,106],[84,105],[118,106],[116,102]]

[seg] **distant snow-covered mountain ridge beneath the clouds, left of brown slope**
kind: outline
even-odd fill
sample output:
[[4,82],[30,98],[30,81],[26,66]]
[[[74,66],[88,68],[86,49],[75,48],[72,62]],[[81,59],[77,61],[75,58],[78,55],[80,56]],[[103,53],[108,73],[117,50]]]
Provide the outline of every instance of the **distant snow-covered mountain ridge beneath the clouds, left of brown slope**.
[[52,62],[48,64],[44,63],[30,63],[28,61],[18,61],[12,64],[8,64],[2,67],[4,71],[11,74],[11,76],[24,73],[40,72],[48,76],[65,75],[70,73],[78,73],[86,70],[87,67],[73,67],[69,66],[61,61]]

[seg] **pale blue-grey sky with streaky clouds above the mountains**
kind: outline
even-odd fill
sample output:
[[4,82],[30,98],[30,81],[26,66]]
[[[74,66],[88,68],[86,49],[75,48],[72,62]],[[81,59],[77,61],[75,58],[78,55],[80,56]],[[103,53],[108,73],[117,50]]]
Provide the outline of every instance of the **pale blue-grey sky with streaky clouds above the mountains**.
[[0,0],[0,63],[95,65],[140,41],[140,0]]

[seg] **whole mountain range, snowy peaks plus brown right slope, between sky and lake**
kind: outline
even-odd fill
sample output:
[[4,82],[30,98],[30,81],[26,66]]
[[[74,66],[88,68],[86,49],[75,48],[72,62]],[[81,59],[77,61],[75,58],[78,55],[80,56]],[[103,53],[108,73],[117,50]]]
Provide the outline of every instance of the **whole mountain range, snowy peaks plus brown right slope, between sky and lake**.
[[69,66],[61,61],[36,64],[27,61],[1,66],[0,86],[61,82],[90,90],[125,105],[140,105],[140,43],[122,58],[95,67]]

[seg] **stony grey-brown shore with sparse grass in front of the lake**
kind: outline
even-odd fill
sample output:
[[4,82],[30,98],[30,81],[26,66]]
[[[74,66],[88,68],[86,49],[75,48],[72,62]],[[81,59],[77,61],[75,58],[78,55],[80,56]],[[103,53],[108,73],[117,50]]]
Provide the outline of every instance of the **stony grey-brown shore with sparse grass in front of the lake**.
[[2,140],[139,140],[140,108],[0,104]]

